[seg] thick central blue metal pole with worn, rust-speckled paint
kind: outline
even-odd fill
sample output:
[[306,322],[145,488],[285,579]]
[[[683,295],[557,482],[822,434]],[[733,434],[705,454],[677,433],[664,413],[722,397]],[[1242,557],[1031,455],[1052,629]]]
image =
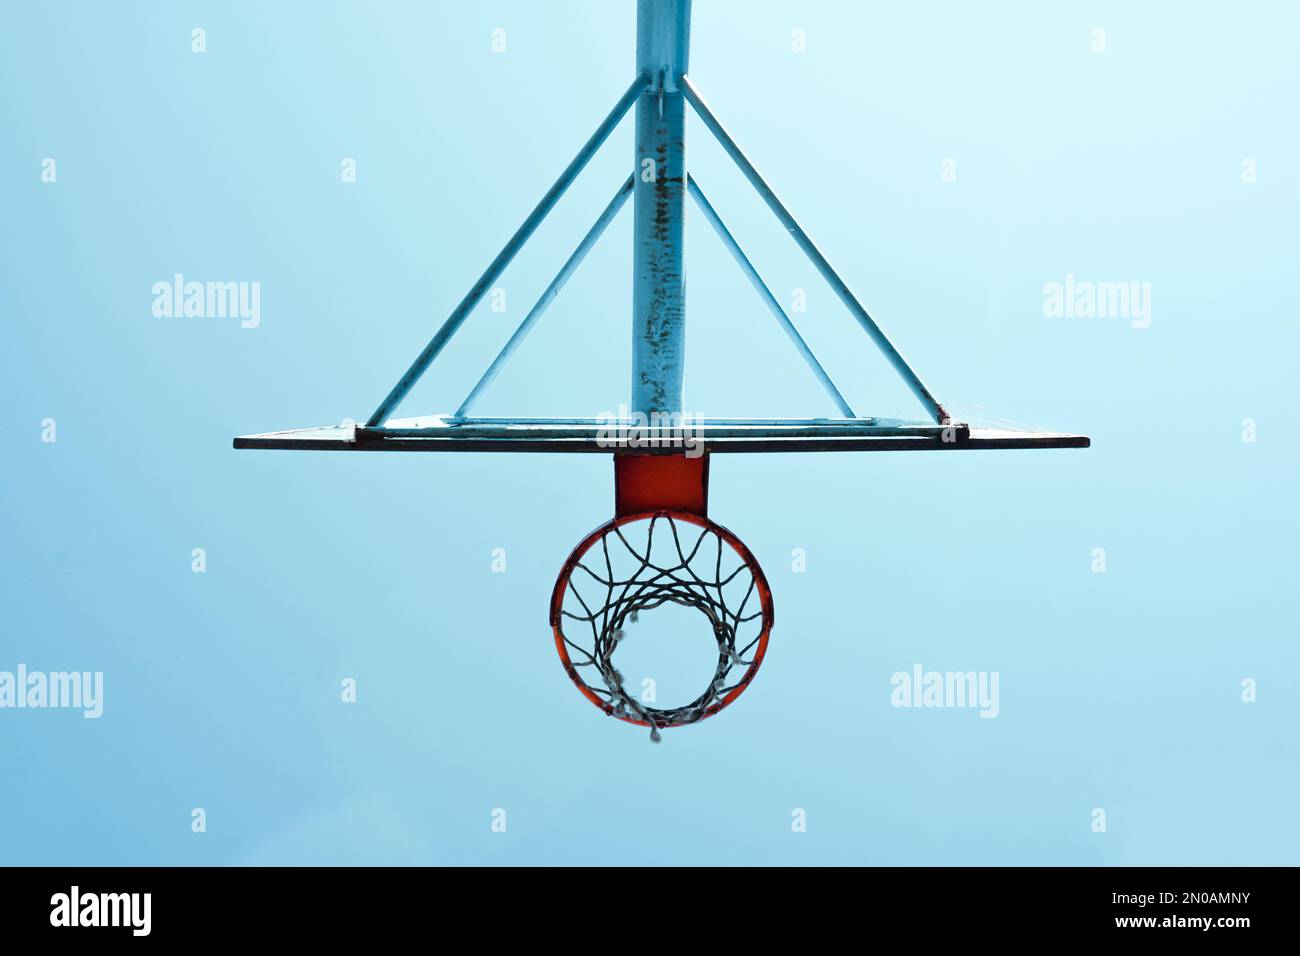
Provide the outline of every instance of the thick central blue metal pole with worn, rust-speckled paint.
[[686,286],[686,72],[690,0],[637,0],[637,99],[632,252],[632,411],[682,411]]

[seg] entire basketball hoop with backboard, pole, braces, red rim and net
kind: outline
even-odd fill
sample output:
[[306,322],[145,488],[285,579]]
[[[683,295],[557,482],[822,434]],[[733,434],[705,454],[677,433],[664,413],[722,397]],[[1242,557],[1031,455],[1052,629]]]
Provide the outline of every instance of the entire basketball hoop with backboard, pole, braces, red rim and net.
[[[1089,445],[1083,434],[975,428],[953,419],[705,101],[690,78],[689,39],[690,0],[637,0],[630,85],[364,424],[265,432],[234,441],[238,449],[299,451],[612,454],[614,520],[592,532],[566,562],[551,596],[550,622],[560,661],[578,691],[604,713],[650,727],[651,740],[659,739],[662,727],[696,723],[736,700],[754,679],[772,630],[772,594],[758,562],[734,535],[708,519],[710,455]],[[916,398],[926,418],[854,411],[686,168],[688,105]],[[454,412],[396,418],[398,406],[628,112],[634,112],[632,169],[624,172],[623,183],[469,394]],[[647,169],[655,174],[646,176]],[[836,418],[684,415],[688,198],[838,410]],[[480,395],[627,203],[633,207],[633,287],[630,397],[620,406],[625,411],[612,419],[473,415]],[[592,319],[603,324],[607,316],[602,310]],[[581,375],[582,364],[567,362],[559,371]],[[688,418],[689,434],[682,434],[677,423]],[[651,424],[656,421],[670,424]],[[676,708],[650,706],[653,701],[629,695],[614,661],[627,639],[625,626],[641,611],[664,605],[701,611],[718,644],[712,679],[694,700]]]

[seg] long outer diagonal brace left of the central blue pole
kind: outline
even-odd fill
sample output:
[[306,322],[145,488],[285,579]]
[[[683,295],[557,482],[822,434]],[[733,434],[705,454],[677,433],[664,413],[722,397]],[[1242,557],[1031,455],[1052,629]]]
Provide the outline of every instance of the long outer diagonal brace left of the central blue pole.
[[429,345],[424,347],[424,351],[421,351],[419,358],[416,358],[416,360],[411,364],[411,368],[408,368],[406,375],[403,375],[398,380],[398,384],[393,386],[387,398],[385,398],[380,403],[380,407],[374,410],[374,414],[367,420],[367,425],[382,425],[389,415],[393,414],[393,410],[398,407],[403,398],[406,398],[411,388],[420,381],[420,376],[428,371],[433,360],[438,358],[438,352],[441,352],[451,337],[456,334],[456,330],[464,324],[474,306],[478,304],[480,299],[482,299],[482,297],[488,293],[493,282],[500,277],[500,273],[506,271],[506,267],[510,265],[519,250],[525,242],[528,242],[529,237],[537,230],[537,226],[541,225],[542,220],[546,219],[547,213],[550,213],[550,211],[555,207],[559,198],[564,195],[564,191],[569,187],[573,179],[577,178],[577,174],[582,172],[592,156],[595,155],[595,151],[601,148],[601,144],[610,137],[614,127],[619,125],[619,120],[621,120],[624,113],[627,113],[632,104],[637,101],[641,96],[641,91],[646,87],[646,82],[647,77],[645,74],[638,74],[637,78],[632,81],[627,92],[624,92],[623,96],[619,98],[619,101],[614,104],[614,109],[610,111],[610,114],[606,116],[601,125],[595,127],[595,133],[593,133],[590,139],[582,144],[582,148],[578,150],[573,161],[564,168],[563,173],[560,173],[560,178],[558,178],[555,185],[547,190],[546,195],[542,196],[542,200],[528,215],[528,219],[524,220],[524,224],[519,228],[519,230],[510,237],[510,242],[507,242],[506,247],[497,254],[495,259],[491,260],[488,271],[478,277],[478,281],[474,282],[473,287],[465,294],[465,298],[463,298],[460,304],[456,306],[450,316],[447,316],[442,328],[438,329],[432,339],[429,339]]

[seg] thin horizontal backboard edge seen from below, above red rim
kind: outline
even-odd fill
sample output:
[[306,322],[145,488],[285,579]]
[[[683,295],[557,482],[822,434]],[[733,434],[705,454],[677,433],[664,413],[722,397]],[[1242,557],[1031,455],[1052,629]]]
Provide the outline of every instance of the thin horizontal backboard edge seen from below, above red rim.
[[703,419],[672,427],[606,419],[391,419],[235,438],[237,449],[300,451],[514,451],[690,454],[772,451],[959,451],[1088,447],[1082,434],[937,425],[896,419]]

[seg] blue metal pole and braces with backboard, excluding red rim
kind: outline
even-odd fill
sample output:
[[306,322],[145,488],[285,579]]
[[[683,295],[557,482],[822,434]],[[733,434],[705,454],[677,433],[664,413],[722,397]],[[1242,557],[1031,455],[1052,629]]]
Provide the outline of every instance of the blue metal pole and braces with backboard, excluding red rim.
[[[1050,432],[980,429],[953,421],[902,354],[835,271],[767,181],[705,103],[686,73],[690,0],[637,0],[637,77],[560,173],[478,281],[438,328],[406,373],[364,425],[272,432],[235,438],[243,449],[370,451],[599,451],[632,450],[598,438],[608,423],[595,419],[469,418],[468,411],[517,350],[560,289],[604,233],[629,195],[634,199],[633,394],[634,412],[680,412],[684,352],[685,281],[682,250],[685,198],[693,196],[732,258],[759,293],[844,419],[716,419],[699,425],[710,451],[863,451],[975,447],[1087,447],[1088,438]],[[831,289],[909,386],[935,423],[854,415],[852,406],[814,356],[807,342],[758,274],[685,166],[684,104],[722,144],[741,173],[789,232]],[[456,334],[482,297],[588,165],[632,105],[637,107],[637,168],[516,328],[510,341],[460,403],[455,415],[390,419],[398,405]],[[642,174],[655,159],[654,178]],[[630,424],[636,424],[634,421]],[[698,423],[690,423],[696,425]]]

